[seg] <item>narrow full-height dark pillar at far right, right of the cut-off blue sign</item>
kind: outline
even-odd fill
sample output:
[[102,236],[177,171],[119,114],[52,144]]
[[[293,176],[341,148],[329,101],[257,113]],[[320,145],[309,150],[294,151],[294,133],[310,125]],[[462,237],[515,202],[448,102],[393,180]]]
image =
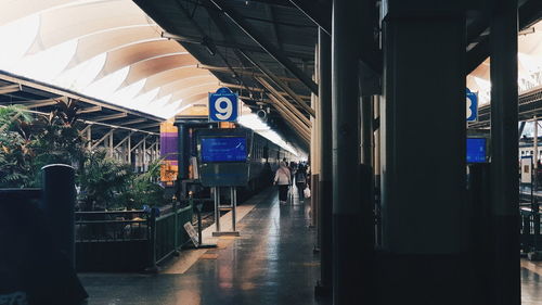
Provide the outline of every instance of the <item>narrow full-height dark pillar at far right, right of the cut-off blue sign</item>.
[[519,279],[517,0],[492,1],[491,304],[521,303]]

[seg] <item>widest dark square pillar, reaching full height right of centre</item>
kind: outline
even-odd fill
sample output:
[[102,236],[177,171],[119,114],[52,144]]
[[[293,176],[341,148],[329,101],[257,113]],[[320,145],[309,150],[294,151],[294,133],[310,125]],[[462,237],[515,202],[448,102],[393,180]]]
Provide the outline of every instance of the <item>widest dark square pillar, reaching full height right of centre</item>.
[[383,305],[469,304],[462,2],[385,3]]

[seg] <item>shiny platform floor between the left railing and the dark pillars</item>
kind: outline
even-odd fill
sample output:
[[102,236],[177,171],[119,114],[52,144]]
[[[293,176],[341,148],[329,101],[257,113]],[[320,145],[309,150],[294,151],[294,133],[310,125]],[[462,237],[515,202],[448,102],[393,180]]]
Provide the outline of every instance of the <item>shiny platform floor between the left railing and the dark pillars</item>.
[[88,304],[327,304],[314,298],[320,259],[309,208],[297,198],[280,205],[267,189],[238,207],[241,237],[211,239],[214,226],[204,231],[217,249],[182,251],[157,275],[79,274]]

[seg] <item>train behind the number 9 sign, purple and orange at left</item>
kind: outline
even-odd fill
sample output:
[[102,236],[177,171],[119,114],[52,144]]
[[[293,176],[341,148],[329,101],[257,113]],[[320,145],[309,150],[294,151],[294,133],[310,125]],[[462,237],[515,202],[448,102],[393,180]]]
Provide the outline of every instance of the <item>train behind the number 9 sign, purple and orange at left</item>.
[[[160,181],[180,199],[189,194],[194,198],[209,198],[209,188],[202,186],[198,173],[198,129],[220,128],[238,131],[242,127],[233,123],[209,123],[207,116],[176,116],[160,125],[160,155],[164,158]],[[294,154],[269,139],[248,129],[247,158],[248,183],[237,188],[240,200],[269,186],[280,162],[292,160]]]

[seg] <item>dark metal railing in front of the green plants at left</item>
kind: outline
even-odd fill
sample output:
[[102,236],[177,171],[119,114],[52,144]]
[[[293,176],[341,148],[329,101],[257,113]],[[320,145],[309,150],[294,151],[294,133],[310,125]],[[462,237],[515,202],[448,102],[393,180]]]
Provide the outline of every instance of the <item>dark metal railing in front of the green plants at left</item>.
[[77,212],[78,266],[91,270],[107,262],[106,269],[116,269],[115,265],[122,266],[119,269],[134,270],[141,265],[156,269],[157,264],[178,254],[179,247],[190,240],[183,225],[192,221],[193,205],[191,201],[185,204],[166,208],[168,214],[163,216],[157,215],[157,209]]

